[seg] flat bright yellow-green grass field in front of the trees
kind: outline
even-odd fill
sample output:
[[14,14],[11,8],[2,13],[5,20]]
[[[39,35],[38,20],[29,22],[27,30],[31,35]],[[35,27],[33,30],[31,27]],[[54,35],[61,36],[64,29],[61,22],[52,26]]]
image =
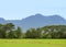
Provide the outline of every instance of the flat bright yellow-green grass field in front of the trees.
[[66,47],[66,39],[0,39],[0,47]]

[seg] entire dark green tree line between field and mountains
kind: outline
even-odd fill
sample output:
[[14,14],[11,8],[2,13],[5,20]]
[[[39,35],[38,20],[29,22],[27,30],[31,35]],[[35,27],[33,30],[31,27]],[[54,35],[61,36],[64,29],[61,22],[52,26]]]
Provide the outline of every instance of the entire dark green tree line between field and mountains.
[[25,33],[12,23],[0,24],[0,38],[66,38],[66,25],[29,28]]

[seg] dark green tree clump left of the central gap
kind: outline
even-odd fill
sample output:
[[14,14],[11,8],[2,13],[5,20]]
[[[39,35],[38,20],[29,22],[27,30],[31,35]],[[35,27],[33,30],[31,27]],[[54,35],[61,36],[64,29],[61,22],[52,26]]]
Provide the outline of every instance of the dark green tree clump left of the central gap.
[[20,38],[21,34],[21,28],[15,30],[12,23],[0,24],[0,38]]

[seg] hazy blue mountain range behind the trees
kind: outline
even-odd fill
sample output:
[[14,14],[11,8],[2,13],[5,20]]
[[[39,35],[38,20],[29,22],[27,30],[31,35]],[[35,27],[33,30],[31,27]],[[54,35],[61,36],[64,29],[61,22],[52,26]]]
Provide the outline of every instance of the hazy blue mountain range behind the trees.
[[59,15],[45,16],[35,14],[23,20],[4,20],[0,17],[0,23],[13,23],[15,27],[20,26],[23,31],[26,31],[31,27],[42,27],[46,25],[66,25],[66,20]]

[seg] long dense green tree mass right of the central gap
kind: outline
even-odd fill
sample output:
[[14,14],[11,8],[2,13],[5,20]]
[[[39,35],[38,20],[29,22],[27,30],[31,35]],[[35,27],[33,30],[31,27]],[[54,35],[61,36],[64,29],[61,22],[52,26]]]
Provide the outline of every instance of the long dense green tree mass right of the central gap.
[[28,38],[66,38],[65,25],[51,25],[41,28],[30,28],[25,33]]

